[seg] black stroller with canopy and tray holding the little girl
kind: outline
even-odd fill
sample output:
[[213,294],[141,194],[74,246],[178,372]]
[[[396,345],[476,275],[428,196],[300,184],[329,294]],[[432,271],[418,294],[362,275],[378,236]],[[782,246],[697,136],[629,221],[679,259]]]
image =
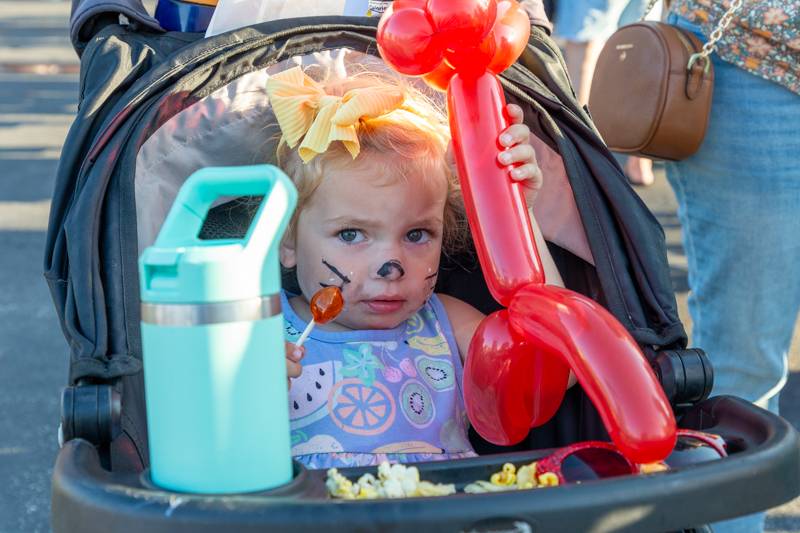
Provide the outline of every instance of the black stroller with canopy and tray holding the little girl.
[[[342,48],[362,61],[379,61],[376,22],[281,20],[201,39],[161,32],[138,2],[76,0],[80,104],[58,170],[45,259],[71,358],[63,446],[53,475],[53,529],[674,531],[800,494],[796,431],[742,400],[707,398],[711,369],[700,350],[686,349],[663,232],[577,104],[557,47],[538,27],[502,82],[566,178],[553,193],[566,198],[559,204],[566,207],[553,216],[582,229],[577,239],[553,234],[548,246],[567,286],[602,303],[641,344],[679,425],[722,435],[729,457],[535,492],[404,500],[332,500],[325,473],[300,466],[284,487],[238,495],[179,494],[149,481],[137,257],[191,172],[265,161],[267,72],[295,56]],[[241,235],[251,214],[243,205],[214,208],[202,232],[207,238]],[[484,312],[496,305],[471,256],[442,265],[438,290]],[[473,437],[481,457],[423,463],[421,476],[461,488],[505,462],[530,462],[549,448],[607,434],[576,386],[556,416],[513,449]],[[362,471],[343,469],[351,478]]]

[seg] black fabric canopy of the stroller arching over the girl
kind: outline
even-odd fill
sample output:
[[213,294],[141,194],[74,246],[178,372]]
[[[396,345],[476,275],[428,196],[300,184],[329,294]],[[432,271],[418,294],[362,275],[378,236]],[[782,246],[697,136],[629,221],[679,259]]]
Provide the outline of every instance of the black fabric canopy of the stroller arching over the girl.
[[[133,200],[136,158],[148,139],[167,125],[163,138],[182,135],[184,144],[191,143],[187,133],[209,128],[213,120],[176,126],[171,119],[281,60],[337,48],[377,55],[375,19],[282,20],[204,40],[151,33],[152,19],[135,5],[128,7],[146,28],[112,24],[88,43],[81,38],[87,25],[96,25],[89,15],[97,16],[97,6],[81,4],[73,13],[71,35],[83,53],[81,100],[58,168],[45,257],[45,276],[70,345],[72,381],[140,369],[135,269],[142,243],[136,228],[152,221],[137,221]],[[254,81],[258,78],[248,83]],[[563,161],[569,184],[550,190],[572,193],[591,253],[584,259],[594,263],[584,287],[573,283],[572,288],[601,301],[643,345],[685,345],[663,231],[575,101],[563,60],[544,30],[534,28],[529,46],[502,81],[508,100],[523,106],[528,126]],[[168,173],[169,158],[161,159]],[[548,192],[543,196],[537,214],[539,204],[549,207]],[[558,211],[537,216],[551,242],[547,228],[554,216]],[[576,269],[566,270],[570,284]]]

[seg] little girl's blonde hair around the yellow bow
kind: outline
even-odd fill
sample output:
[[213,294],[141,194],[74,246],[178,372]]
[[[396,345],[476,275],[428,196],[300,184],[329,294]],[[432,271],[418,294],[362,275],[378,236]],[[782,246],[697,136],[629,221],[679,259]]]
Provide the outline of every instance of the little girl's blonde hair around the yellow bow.
[[363,73],[345,79],[323,83],[325,92],[342,95],[363,87],[400,87],[406,95],[403,106],[377,118],[362,118],[356,132],[361,151],[353,157],[341,142],[334,142],[323,153],[304,163],[297,147],[280,142],[277,165],[292,179],[297,188],[297,209],[289,222],[286,236],[293,238],[297,219],[314,192],[325,178],[326,169],[343,169],[364,164],[374,158],[394,158],[393,173],[402,177],[423,176],[428,179],[444,177],[447,199],[443,217],[442,249],[454,254],[468,247],[469,228],[464,214],[461,187],[447,161],[450,130],[441,109],[420,91],[398,78]]

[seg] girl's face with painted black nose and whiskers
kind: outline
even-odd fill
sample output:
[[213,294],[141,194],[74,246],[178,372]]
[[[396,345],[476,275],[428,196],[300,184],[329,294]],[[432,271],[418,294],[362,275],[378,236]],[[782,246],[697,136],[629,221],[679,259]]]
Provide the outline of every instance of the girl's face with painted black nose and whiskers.
[[305,305],[322,287],[342,288],[334,328],[393,328],[436,284],[447,183],[393,175],[391,161],[382,163],[328,172],[281,244]]

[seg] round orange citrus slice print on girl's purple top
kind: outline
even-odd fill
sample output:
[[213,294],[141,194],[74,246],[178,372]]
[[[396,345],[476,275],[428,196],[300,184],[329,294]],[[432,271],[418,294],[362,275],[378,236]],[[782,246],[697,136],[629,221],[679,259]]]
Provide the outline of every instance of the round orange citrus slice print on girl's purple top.
[[328,412],[342,431],[355,435],[379,435],[394,422],[395,404],[385,385],[365,385],[360,379],[343,379],[330,392]]

